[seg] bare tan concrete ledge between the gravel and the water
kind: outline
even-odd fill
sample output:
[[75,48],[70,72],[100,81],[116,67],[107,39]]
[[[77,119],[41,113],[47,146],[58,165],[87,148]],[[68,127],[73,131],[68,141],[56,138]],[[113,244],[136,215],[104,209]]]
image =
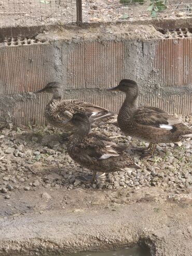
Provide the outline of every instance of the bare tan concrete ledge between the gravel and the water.
[[[42,192],[50,198],[39,198]],[[109,250],[136,243],[148,245],[155,256],[191,255],[191,194],[157,187],[132,193],[42,192],[18,192],[1,200],[0,255]],[[64,204],[66,197],[70,204]],[[11,214],[13,209],[17,213]]]

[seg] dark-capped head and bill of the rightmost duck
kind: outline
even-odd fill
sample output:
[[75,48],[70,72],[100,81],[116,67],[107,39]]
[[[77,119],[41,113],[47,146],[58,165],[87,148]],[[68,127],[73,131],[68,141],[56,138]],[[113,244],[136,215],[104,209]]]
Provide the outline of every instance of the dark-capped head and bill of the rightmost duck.
[[109,91],[122,91],[126,93],[126,97],[136,99],[138,97],[138,84],[131,79],[122,79],[118,86],[109,88]]

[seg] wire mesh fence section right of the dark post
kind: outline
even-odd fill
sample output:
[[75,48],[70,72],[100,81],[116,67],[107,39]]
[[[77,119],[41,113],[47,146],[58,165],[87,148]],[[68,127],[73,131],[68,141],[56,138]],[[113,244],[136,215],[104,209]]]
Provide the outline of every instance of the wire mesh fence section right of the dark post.
[[83,1],[84,21],[115,21],[192,16],[191,0]]

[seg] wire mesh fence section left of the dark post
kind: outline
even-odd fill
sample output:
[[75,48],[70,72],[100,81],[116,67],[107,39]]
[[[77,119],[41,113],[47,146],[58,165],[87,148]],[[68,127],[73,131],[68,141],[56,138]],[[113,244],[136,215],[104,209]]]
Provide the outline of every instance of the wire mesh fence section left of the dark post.
[[1,0],[0,26],[76,22],[76,0]]

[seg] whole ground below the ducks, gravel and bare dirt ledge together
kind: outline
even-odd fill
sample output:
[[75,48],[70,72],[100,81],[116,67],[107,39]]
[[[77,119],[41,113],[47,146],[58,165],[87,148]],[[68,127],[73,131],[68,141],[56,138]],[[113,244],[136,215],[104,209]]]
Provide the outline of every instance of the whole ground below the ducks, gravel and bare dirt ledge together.
[[[191,125],[191,117],[183,118]],[[130,148],[144,146],[114,124],[94,129]],[[151,159],[133,154],[141,170],[109,173],[88,185],[78,177],[90,172],[66,154],[56,130],[4,127],[0,139],[0,255],[137,243],[156,256],[191,255],[191,140],[159,144]]]

